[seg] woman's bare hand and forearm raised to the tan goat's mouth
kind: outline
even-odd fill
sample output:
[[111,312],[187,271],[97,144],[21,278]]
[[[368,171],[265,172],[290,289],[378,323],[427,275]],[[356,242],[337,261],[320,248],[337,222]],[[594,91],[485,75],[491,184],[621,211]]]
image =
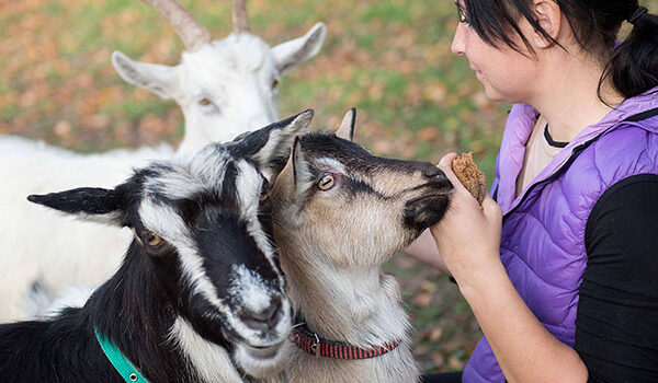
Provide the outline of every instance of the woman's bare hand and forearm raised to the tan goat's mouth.
[[455,156],[447,154],[439,163],[455,190],[445,216],[430,231],[507,380],[586,382],[578,353],[546,330],[512,286],[500,262],[500,207],[489,196],[481,207],[477,204],[452,171]]

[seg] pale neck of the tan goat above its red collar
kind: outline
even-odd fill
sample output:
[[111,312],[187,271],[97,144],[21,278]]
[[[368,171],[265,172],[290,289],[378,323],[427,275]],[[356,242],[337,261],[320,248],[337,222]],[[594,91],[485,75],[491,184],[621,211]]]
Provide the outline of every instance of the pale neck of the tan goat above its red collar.
[[363,347],[407,339],[397,281],[381,265],[337,267],[324,260],[330,259],[327,254],[295,254],[303,246],[294,248],[282,249],[281,263],[295,310],[313,332]]

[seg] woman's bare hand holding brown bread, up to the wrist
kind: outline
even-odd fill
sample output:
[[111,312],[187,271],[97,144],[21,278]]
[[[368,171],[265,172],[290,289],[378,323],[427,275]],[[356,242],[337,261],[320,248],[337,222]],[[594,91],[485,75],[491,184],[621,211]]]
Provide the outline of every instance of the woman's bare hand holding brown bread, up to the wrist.
[[480,207],[462,185],[452,170],[452,161],[456,156],[455,153],[446,154],[439,163],[454,192],[445,216],[430,231],[443,264],[462,287],[462,283],[485,277],[491,268],[501,267],[502,213],[488,195]]

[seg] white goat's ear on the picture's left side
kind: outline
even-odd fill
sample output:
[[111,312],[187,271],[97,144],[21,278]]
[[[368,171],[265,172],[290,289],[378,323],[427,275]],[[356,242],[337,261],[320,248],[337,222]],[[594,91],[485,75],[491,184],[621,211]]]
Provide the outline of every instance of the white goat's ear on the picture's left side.
[[112,54],[112,65],[122,79],[161,98],[174,98],[178,93],[175,67],[134,61],[118,50]]

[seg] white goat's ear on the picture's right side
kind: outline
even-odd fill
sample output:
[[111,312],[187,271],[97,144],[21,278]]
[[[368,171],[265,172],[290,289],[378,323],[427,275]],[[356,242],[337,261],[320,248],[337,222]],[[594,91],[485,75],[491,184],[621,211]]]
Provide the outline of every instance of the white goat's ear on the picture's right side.
[[317,55],[325,43],[325,37],[327,37],[327,26],[317,23],[304,36],[272,47],[279,72],[283,73]]

